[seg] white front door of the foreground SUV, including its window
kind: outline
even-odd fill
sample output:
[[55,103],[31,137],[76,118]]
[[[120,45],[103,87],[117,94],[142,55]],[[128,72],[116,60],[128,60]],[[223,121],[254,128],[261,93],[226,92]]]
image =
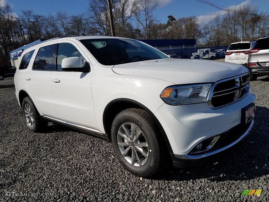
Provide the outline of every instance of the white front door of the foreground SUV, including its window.
[[87,56],[73,41],[59,43],[56,55],[56,71],[51,75],[54,106],[59,119],[71,123],[97,128],[90,72],[62,71],[62,60],[67,57],[80,57],[82,64],[89,62]]

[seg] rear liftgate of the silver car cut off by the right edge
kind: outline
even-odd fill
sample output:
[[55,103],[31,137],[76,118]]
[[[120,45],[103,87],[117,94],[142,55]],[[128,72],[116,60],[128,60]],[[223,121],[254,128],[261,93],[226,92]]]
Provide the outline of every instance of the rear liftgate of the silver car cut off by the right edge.
[[251,53],[249,62],[255,62],[260,67],[269,68],[269,38],[257,40],[252,49],[259,49],[259,51]]

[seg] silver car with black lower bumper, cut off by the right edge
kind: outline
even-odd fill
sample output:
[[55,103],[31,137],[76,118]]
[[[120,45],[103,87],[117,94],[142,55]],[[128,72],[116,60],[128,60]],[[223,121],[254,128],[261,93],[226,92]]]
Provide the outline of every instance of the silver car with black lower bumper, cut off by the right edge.
[[258,76],[269,75],[269,36],[258,39],[249,51],[247,69],[250,81],[257,80]]

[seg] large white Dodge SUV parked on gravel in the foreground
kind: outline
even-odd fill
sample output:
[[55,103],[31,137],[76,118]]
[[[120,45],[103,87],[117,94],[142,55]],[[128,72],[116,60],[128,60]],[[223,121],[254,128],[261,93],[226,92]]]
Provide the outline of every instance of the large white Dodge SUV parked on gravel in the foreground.
[[170,159],[176,167],[200,165],[254,124],[246,68],[169,58],[132,39],[45,41],[23,51],[14,80],[31,131],[49,121],[104,138],[138,176]]

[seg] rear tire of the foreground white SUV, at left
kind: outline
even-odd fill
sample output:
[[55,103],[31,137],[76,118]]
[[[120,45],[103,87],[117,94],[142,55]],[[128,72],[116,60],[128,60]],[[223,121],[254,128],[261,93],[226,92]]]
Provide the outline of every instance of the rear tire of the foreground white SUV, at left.
[[[30,106],[30,110],[25,109],[25,107],[27,108],[28,106]],[[28,109],[29,109],[29,107],[28,107]],[[27,111],[30,113],[27,113]],[[48,126],[47,121],[42,121],[40,119],[40,115],[36,109],[36,106],[34,105],[34,103],[30,97],[25,97],[23,99],[22,113],[23,113],[23,118],[27,124],[27,127],[35,133],[41,132],[42,130],[44,130],[44,127]],[[29,118],[29,119],[27,119],[27,118]],[[30,120],[30,121],[28,122],[28,120]]]

